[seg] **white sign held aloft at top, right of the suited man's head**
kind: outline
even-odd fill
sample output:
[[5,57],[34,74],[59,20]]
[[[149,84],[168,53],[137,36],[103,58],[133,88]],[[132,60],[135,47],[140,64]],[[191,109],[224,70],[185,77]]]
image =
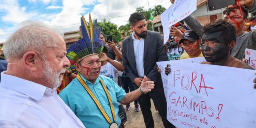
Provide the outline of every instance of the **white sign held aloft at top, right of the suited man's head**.
[[175,0],[174,4],[161,14],[164,43],[167,42],[172,25],[180,22],[197,9],[197,0]]

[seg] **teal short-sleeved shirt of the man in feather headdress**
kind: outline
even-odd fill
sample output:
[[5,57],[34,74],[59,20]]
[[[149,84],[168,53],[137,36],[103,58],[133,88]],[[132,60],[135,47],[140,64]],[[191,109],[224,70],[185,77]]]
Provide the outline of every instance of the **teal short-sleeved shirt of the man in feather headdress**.
[[[102,108],[110,117],[111,122],[113,122],[108,97],[101,86],[99,78],[103,81],[112,99],[116,115],[116,123],[120,126],[121,120],[118,116],[119,109],[117,102],[120,102],[125,97],[126,93],[124,89],[120,88],[112,79],[103,75],[99,75],[94,84],[87,81],[81,74],[80,76],[98,99]],[[60,91],[59,96],[83,122],[86,128],[109,128],[110,124],[106,121],[93,99],[77,78],[75,78],[65,89]]]

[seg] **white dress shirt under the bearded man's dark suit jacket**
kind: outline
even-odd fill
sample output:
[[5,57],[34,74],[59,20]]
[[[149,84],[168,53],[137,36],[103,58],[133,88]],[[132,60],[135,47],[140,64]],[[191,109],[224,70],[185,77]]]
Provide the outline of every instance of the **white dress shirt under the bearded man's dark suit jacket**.
[[133,50],[136,62],[136,69],[138,72],[139,77],[144,77],[144,38],[140,40],[135,39],[134,32],[132,33],[132,40],[133,40]]

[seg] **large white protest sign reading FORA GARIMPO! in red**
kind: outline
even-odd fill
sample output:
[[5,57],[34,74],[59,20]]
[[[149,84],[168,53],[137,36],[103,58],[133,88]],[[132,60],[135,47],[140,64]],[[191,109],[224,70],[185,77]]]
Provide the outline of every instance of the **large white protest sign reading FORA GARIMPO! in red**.
[[255,128],[255,70],[170,61],[167,119],[178,128]]

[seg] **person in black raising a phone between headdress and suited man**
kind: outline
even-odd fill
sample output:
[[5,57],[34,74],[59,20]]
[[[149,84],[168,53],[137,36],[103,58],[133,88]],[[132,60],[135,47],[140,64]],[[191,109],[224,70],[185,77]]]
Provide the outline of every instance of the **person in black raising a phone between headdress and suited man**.
[[[109,38],[110,38],[110,36],[109,36]],[[122,53],[115,46],[115,42],[112,40],[112,35],[111,35],[111,39],[108,39],[106,42],[105,35],[101,32],[100,40],[108,48],[108,50],[109,50],[108,57],[109,58],[111,58],[113,60],[117,59],[117,61],[122,61]]]

